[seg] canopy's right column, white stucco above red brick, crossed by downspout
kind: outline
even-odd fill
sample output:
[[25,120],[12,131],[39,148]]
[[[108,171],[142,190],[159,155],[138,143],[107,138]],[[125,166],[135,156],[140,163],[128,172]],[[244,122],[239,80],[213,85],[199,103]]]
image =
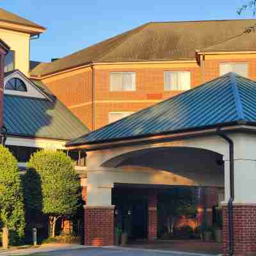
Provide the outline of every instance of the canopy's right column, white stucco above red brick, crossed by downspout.
[[[228,255],[228,207],[229,163],[225,161],[225,202],[223,207],[223,253]],[[234,255],[254,255],[256,253],[256,166],[253,159],[234,161]]]

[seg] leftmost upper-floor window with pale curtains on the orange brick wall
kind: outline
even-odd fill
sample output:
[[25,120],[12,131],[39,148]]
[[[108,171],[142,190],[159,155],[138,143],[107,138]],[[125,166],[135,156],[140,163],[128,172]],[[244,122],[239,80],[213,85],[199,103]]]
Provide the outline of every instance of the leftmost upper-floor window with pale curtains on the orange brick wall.
[[110,92],[134,92],[136,91],[135,72],[111,72]]

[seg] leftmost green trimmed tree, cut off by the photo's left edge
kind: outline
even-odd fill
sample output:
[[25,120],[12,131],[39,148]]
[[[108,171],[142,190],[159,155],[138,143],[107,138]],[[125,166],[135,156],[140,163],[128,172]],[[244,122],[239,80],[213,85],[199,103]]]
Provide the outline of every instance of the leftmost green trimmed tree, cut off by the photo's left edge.
[[24,235],[25,214],[17,160],[0,145],[0,224],[12,231],[15,243]]

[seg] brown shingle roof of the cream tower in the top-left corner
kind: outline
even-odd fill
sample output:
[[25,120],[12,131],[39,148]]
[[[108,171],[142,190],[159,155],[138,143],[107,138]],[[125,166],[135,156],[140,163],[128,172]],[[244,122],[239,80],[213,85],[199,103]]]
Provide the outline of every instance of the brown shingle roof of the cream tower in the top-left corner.
[[24,19],[14,13],[4,10],[3,8],[0,8],[0,20],[6,21],[6,22],[12,22],[12,23],[20,24],[24,26],[30,26],[33,28],[45,29],[44,27],[36,24],[35,22]]

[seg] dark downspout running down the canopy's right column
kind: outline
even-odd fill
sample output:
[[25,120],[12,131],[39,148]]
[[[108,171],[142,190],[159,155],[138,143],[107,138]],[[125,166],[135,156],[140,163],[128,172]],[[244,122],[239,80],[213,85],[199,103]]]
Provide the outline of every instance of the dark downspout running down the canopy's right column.
[[234,254],[234,223],[233,223],[233,201],[234,201],[234,142],[226,135],[221,133],[220,128],[217,134],[229,144],[229,186],[230,198],[228,200],[228,239],[229,249],[228,254]]

